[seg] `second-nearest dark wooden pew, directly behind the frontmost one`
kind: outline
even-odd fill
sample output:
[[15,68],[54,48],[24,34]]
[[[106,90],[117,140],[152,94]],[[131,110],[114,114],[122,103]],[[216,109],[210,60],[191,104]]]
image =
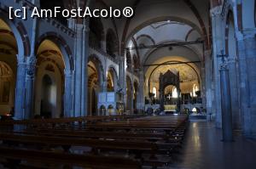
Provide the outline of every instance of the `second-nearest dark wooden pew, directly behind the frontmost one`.
[[117,150],[129,152],[136,155],[137,160],[144,161],[143,154],[150,155],[150,159],[156,159],[157,144],[134,141],[134,140],[102,140],[88,138],[63,138],[63,137],[48,137],[48,136],[32,136],[25,134],[0,133],[0,140],[4,144],[30,144],[40,145],[43,148],[50,146],[61,146],[65,152],[69,152],[72,146],[90,147],[95,155],[102,150]]

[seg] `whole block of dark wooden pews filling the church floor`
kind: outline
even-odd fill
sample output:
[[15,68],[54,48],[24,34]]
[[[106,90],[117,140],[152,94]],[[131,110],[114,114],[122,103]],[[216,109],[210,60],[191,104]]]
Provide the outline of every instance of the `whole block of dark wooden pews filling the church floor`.
[[187,115],[112,115],[2,121],[4,168],[168,168]]

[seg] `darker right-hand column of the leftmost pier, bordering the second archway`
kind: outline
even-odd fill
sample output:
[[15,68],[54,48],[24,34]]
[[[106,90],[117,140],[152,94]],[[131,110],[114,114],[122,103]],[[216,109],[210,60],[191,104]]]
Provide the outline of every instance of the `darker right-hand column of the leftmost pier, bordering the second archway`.
[[26,65],[26,106],[25,106],[25,119],[33,117],[34,108],[34,82],[36,71],[37,59],[35,56],[31,56]]

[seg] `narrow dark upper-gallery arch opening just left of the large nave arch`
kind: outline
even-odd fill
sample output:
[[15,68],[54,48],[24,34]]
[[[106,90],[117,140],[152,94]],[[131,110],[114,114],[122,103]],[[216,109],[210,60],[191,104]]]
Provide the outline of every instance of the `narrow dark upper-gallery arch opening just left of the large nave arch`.
[[108,29],[107,35],[106,35],[106,51],[107,54],[112,56],[113,58],[116,58],[119,53],[119,42],[116,37],[116,34],[112,29]]

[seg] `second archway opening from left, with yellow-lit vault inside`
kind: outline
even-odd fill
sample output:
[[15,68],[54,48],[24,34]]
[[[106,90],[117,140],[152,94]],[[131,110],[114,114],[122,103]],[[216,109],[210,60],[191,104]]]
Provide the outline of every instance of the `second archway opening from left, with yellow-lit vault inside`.
[[[70,70],[69,65],[66,65],[65,62],[66,51],[62,50],[64,52],[63,54],[60,45],[52,40],[54,39],[50,37],[43,38],[43,40],[37,44],[35,50],[37,53],[35,115],[45,115],[45,118],[63,116],[63,108],[66,106],[64,105],[64,93],[68,92],[65,90],[66,86],[64,85],[64,70]],[[44,82],[45,76],[49,76],[47,80],[48,83]],[[50,87],[50,90],[48,90],[47,87]],[[44,90],[49,93],[46,93]],[[49,95],[46,96],[45,94]],[[50,98],[50,100],[47,98]],[[47,107],[49,108],[48,110],[46,109]]]

